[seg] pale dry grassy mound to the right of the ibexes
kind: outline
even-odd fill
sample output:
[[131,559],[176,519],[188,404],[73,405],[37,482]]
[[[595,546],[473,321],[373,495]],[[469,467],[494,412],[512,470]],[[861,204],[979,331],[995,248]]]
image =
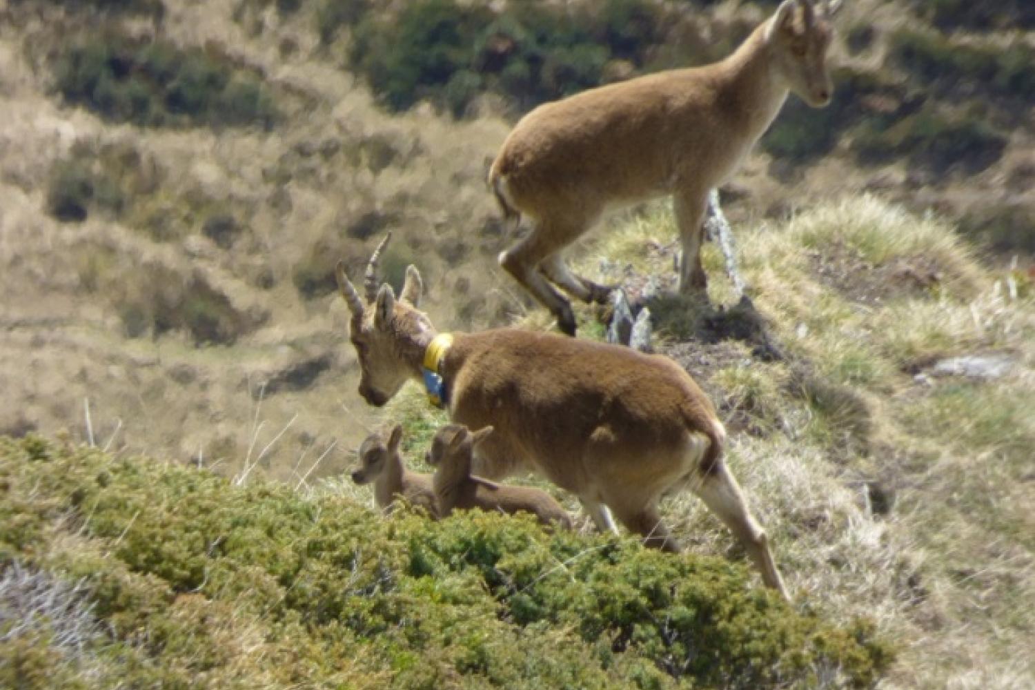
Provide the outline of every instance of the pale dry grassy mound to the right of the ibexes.
[[[730,463],[798,605],[871,616],[898,640],[884,687],[1035,683],[1018,655],[1035,629],[1033,295],[1011,297],[1010,276],[976,263],[946,222],[875,198],[737,233],[789,361],[728,364],[707,387],[744,429]],[[579,265],[663,281],[671,258],[656,247],[673,239],[667,209],[648,209]],[[709,264],[711,298],[729,303],[715,253]],[[925,373],[938,358],[989,351],[1012,354],[1005,378]],[[742,558],[691,496],[663,508],[692,549]]]

